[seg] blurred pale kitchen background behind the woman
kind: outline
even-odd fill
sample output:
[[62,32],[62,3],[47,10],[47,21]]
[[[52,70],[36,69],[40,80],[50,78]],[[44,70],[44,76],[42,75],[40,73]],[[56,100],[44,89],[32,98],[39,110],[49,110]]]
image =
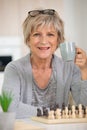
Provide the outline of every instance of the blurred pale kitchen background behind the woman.
[[[4,66],[28,53],[22,23],[29,10],[39,7],[57,10],[65,24],[66,40],[87,51],[87,0],[0,0],[0,92]],[[60,56],[59,50],[56,54]]]

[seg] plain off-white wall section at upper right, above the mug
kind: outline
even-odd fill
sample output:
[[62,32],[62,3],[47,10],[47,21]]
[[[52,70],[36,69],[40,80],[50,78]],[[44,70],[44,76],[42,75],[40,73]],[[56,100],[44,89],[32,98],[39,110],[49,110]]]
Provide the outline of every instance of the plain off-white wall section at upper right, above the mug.
[[63,0],[66,39],[87,52],[87,0]]

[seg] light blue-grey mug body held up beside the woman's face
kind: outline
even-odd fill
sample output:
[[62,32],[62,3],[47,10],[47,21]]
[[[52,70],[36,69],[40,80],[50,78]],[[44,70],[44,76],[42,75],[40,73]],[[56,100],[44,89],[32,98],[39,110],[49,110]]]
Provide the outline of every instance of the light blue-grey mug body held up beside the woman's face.
[[60,43],[60,52],[64,61],[74,61],[76,48],[74,42]]

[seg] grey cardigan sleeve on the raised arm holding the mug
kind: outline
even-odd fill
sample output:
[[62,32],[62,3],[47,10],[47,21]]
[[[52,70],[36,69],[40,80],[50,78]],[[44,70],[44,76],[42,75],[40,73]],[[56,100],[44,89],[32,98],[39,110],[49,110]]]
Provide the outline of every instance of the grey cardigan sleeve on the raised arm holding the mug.
[[81,80],[80,69],[74,66],[71,91],[76,104],[87,106],[87,80]]

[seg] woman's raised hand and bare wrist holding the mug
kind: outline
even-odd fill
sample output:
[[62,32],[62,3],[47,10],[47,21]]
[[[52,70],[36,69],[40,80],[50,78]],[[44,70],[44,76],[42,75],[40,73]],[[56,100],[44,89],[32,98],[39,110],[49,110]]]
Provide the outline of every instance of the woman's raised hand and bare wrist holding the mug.
[[76,48],[75,64],[81,70],[82,80],[87,80],[87,55],[81,48]]

